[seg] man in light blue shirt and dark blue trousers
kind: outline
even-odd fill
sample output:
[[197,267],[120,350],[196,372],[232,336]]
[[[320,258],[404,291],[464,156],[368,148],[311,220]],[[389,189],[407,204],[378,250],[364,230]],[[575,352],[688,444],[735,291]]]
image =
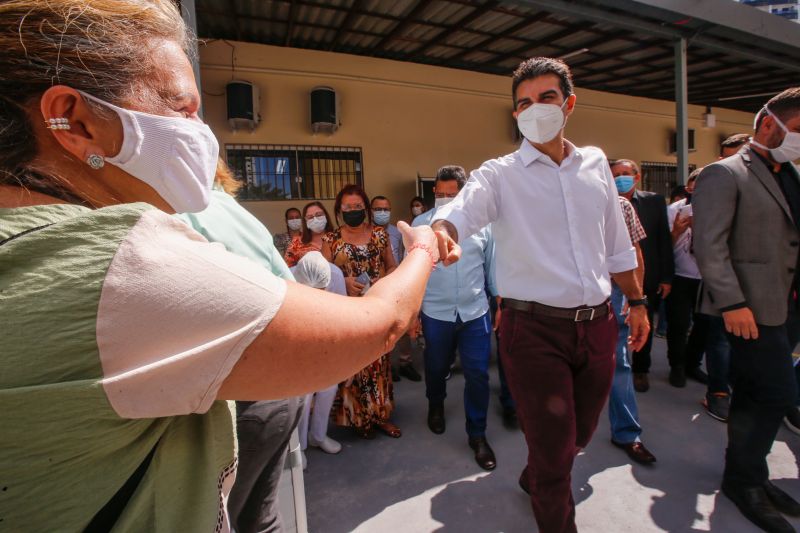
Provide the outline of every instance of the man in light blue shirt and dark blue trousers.
[[[429,225],[438,208],[452,200],[467,181],[464,169],[439,169],[434,184],[436,207],[414,219],[413,226]],[[497,295],[491,272],[494,240],[485,227],[461,242],[461,259],[445,267],[441,263],[428,280],[420,319],[425,334],[425,388],[428,397],[428,427],[444,433],[446,376],[456,348],[464,369],[464,412],[470,447],[484,470],[497,464],[486,440],[486,412],[489,408],[489,357],[492,321],[486,298]]]

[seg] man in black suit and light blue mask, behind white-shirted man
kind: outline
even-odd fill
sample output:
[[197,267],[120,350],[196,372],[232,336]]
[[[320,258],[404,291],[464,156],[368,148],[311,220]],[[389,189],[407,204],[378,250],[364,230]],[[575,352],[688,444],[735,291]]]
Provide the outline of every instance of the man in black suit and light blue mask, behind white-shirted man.
[[[672,287],[674,263],[672,238],[667,220],[667,202],[654,192],[640,191],[642,173],[639,165],[630,159],[617,159],[611,164],[611,173],[617,183],[620,196],[624,196],[636,209],[647,237],[639,244],[644,256],[644,293],[647,296],[647,315],[653,323],[653,314],[658,310],[661,298],[666,298]],[[650,371],[650,348],[653,331],[647,343],[638,352],[633,352],[633,387],[639,392],[650,388],[647,373]]]

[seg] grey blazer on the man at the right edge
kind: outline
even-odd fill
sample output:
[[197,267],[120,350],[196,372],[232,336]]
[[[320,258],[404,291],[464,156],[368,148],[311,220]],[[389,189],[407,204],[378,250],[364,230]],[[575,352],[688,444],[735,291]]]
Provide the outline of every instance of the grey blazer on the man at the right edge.
[[703,169],[692,204],[701,312],[745,303],[758,324],[786,322],[800,232],[769,169],[743,148]]

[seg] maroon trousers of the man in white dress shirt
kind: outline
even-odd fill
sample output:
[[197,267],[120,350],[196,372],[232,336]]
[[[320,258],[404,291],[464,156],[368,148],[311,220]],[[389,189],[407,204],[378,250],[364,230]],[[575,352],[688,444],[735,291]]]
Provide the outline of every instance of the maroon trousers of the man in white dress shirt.
[[572,463],[592,438],[614,376],[617,321],[574,322],[503,308],[500,357],[528,444],[540,533],[575,528]]

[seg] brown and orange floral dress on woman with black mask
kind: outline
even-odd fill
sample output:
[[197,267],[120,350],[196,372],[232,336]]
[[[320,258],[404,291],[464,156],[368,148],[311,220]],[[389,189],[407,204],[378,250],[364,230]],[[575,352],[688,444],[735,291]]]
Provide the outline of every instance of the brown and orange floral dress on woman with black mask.
[[[350,244],[342,238],[341,228],[323,238],[331,247],[332,262],[346,277],[366,272],[372,283],[386,273],[383,252],[389,246],[389,234],[374,226],[367,244]],[[394,410],[394,389],[389,354],[360,370],[339,384],[331,416],[339,426],[368,430],[388,420]]]

